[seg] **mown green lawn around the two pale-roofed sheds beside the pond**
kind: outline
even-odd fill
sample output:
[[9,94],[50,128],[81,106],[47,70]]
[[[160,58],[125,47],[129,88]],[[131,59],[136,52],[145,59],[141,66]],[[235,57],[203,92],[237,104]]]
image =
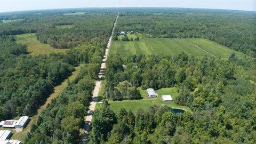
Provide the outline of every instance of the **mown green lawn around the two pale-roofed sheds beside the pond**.
[[[181,109],[191,111],[188,107],[177,106],[174,102],[171,102],[171,101],[169,101],[169,102],[163,101],[163,99],[162,99],[163,94],[171,94],[173,99],[175,99],[178,96],[179,93],[177,92],[177,88],[175,88],[175,87],[163,88],[163,89],[157,90],[156,91],[156,93],[158,94],[157,98],[145,98],[145,96],[147,94],[146,90],[142,90],[140,87],[138,89],[139,89],[139,91],[141,93],[141,97],[143,99],[123,100],[123,101],[108,100],[108,102],[110,104],[110,108],[112,110],[114,110],[115,113],[118,113],[118,111],[121,108],[125,108],[126,110],[131,109],[134,114],[136,114],[140,108],[147,110],[151,105],[157,105],[157,106],[166,105],[166,106],[173,107],[173,108],[181,108]],[[98,103],[97,107],[100,107],[100,105],[101,104]]]

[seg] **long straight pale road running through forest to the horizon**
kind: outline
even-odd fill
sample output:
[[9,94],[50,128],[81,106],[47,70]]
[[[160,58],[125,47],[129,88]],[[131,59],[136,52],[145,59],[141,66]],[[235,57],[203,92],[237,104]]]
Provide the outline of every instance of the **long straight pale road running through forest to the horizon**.
[[[118,13],[118,15],[119,15],[119,13]],[[105,73],[106,60],[107,60],[107,57],[108,57],[108,52],[109,52],[109,49],[110,49],[111,40],[112,40],[112,37],[113,37],[113,34],[114,34],[114,30],[115,30],[116,22],[117,22],[117,19],[118,19],[118,15],[116,16],[116,21],[114,23],[113,30],[112,30],[112,33],[109,37],[108,45],[107,45],[106,50],[105,50],[105,55],[104,55],[102,63],[101,63],[100,72],[99,72],[99,79],[96,82],[96,85],[95,85],[94,90],[93,90],[92,101],[90,103],[90,107],[89,107],[89,110],[87,112],[87,116],[86,116],[86,119],[85,119],[83,132],[82,132],[81,139],[80,139],[80,142],[79,142],[80,144],[84,144],[88,140],[89,131],[91,129],[92,115],[93,115],[95,106],[98,102],[97,99],[98,99],[98,94],[99,94],[99,91],[100,91],[101,78],[103,77],[103,75]]]

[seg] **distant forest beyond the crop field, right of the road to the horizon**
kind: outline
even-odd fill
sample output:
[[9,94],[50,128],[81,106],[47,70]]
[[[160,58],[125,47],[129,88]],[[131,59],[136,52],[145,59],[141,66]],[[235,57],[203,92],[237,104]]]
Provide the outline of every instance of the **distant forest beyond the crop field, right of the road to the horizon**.
[[255,12],[193,9],[126,10],[116,31],[151,37],[207,38],[256,58]]

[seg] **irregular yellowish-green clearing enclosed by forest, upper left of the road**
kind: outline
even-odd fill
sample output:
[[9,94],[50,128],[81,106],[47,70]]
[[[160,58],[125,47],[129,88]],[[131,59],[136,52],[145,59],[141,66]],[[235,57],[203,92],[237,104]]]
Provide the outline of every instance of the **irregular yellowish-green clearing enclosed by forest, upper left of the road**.
[[50,45],[40,43],[35,36],[35,33],[17,35],[17,43],[27,44],[28,52],[31,55],[50,54],[58,52],[66,52],[64,49],[54,49]]

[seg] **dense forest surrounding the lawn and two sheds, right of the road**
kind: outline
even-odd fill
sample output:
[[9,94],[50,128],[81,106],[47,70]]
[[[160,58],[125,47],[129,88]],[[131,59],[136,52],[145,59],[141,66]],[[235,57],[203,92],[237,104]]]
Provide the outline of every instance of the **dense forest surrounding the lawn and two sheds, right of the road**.
[[107,66],[107,98],[133,99],[128,92],[132,87],[157,90],[175,86],[179,88],[175,103],[193,112],[173,114],[167,106],[151,106],[136,114],[128,109],[115,114],[105,101],[95,111],[91,143],[256,142],[253,61],[239,60],[234,54],[228,61],[198,59],[185,53],[174,57],[133,55],[127,59],[115,55],[107,60]]

